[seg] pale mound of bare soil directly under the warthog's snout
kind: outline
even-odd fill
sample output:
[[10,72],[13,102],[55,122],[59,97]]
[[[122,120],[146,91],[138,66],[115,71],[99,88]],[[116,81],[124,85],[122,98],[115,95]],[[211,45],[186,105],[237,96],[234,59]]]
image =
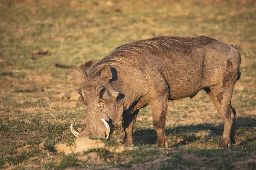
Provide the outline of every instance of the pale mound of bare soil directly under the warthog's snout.
[[76,139],[76,144],[70,146],[67,146],[67,143],[55,145],[55,148],[59,153],[64,152],[65,154],[79,153],[82,151],[103,147],[105,147],[105,143],[103,143],[101,140],[92,140],[88,137]]

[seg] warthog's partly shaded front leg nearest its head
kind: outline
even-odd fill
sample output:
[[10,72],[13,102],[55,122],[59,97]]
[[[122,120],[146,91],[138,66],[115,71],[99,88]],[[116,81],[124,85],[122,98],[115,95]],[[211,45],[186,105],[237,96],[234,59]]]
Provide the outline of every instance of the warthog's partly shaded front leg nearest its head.
[[137,119],[137,115],[139,113],[139,110],[134,111],[133,113],[125,113],[123,116],[123,121],[122,121],[122,127],[125,130],[125,138],[124,138],[124,144],[125,145],[132,145],[132,131],[134,129],[134,124]]

